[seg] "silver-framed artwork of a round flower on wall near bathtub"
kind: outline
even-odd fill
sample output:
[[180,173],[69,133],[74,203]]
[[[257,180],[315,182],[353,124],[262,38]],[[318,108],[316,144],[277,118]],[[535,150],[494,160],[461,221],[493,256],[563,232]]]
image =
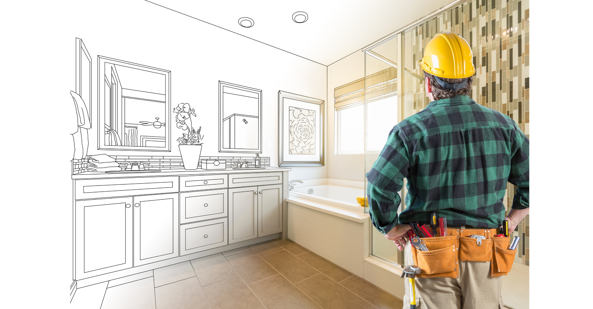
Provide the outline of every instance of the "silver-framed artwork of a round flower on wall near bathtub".
[[324,101],[278,91],[278,166],[324,165]]

